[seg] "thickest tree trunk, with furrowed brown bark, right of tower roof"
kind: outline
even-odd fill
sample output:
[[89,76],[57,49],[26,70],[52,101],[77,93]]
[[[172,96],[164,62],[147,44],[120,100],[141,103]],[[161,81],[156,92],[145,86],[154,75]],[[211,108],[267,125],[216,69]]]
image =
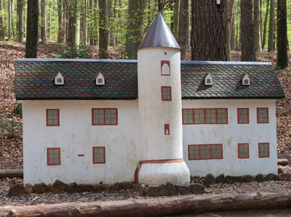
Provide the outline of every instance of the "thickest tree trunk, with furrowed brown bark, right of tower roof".
[[194,60],[227,59],[224,0],[220,2],[192,1],[191,45]]

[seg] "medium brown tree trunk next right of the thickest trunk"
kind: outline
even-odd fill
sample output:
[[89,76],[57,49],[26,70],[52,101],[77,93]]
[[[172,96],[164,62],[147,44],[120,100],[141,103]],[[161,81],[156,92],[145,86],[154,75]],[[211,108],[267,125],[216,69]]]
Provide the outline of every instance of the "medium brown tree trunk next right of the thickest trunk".
[[252,1],[241,0],[241,61],[255,61]]

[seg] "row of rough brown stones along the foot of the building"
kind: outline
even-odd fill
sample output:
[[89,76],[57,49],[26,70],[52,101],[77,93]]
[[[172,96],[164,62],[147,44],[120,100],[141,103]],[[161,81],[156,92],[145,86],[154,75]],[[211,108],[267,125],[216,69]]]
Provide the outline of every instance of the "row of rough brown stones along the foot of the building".
[[28,195],[31,193],[46,193],[48,191],[52,193],[61,193],[66,191],[67,193],[81,193],[81,192],[103,192],[103,191],[119,191],[119,190],[130,190],[133,189],[139,193],[140,196],[157,197],[157,196],[173,196],[173,195],[187,195],[187,194],[201,194],[203,193],[205,186],[211,186],[215,183],[250,183],[252,181],[262,182],[262,181],[291,181],[291,175],[289,173],[283,173],[278,169],[278,176],[275,174],[257,174],[257,176],[245,175],[245,176],[224,176],[220,174],[215,177],[212,174],[207,174],[205,177],[201,176],[191,176],[191,182],[186,184],[175,185],[173,183],[165,183],[160,186],[147,186],[141,183],[135,184],[131,182],[116,182],[110,186],[104,183],[99,183],[95,185],[88,184],[77,184],[71,183],[66,184],[60,180],[56,180],[55,183],[51,185],[46,185],[46,183],[37,183],[34,186],[27,183],[25,186],[23,184],[15,184],[10,186],[8,196],[20,196],[23,193]]

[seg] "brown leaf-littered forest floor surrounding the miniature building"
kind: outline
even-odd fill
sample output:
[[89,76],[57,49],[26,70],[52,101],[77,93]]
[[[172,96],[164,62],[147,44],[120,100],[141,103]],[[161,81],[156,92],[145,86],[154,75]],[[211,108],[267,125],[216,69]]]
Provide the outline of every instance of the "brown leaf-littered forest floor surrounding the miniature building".
[[[96,48],[92,49],[92,58],[98,57]],[[52,42],[39,44],[39,58],[55,58],[56,52],[61,52],[62,48]],[[14,84],[14,58],[25,57],[25,45],[14,42],[0,42],[0,169],[21,169],[22,159],[22,118],[19,114],[13,113],[13,109],[18,105],[15,100]],[[121,59],[124,53],[121,50],[109,50],[110,59]],[[187,54],[189,59],[189,53]],[[240,61],[239,52],[233,53],[233,61]],[[276,55],[274,53],[263,52],[257,55],[258,62],[271,62],[276,64]],[[277,141],[278,157],[288,158],[291,166],[291,69],[277,70],[276,73],[280,83],[285,90],[286,97],[276,100],[276,121],[277,121]],[[285,167],[286,172],[291,172],[291,167]],[[95,200],[128,200],[130,198],[139,198],[134,192],[126,193],[107,193],[104,194],[44,194],[44,195],[23,195],[21,197],[7,197],[9,185],[12,183],[22,183],[22,179],[0,179],[0,204],[24,206],[32,204],[51,204],[59,202],[72,201],[95,201]],[[248,193],[248,192],[284,192],[291,190],[291,182],[264,182],[264,183],[235,183],[233,185],[215,184],[205,188],[205,194],[219,193]],[[0,205],[1,206],[1,205]],[[281,210],[282,211],[282,210]],[[285,211],[282,211],[285,216]],[[264,213],[264,211],[262,212]],[[248,214],[242,212],[241,216]],[[268,215],[267,215],[268,214]],[[280,216],[280,211],[276,215],[266,211],[263,216]],[[257,216],[259,216],[258,214]],[[191,215],[186,215],[191,216]],[[184,216],[184,217],[186,217]],[[226,214],[210,213],[192,216],[239,216]],[[248,216],[255,216],[249,215]]]

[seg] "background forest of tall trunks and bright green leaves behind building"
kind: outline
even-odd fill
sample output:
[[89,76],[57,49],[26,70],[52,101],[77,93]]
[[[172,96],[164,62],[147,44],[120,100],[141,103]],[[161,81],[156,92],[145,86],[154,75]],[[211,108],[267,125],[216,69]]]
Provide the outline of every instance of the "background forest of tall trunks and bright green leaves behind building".
[[[287,66],[291,1],[160,2],[182,59],[231,60],[238,50],[242,61],[255,61],[256,52],[278,50],[277,66]],[[99,58],[108,58],[111,48],[118,58],[136,59],[157,13],[157,0],[0,0],[0,39],[26,41],[26,57],[36,57],[39,41],[60,45],[57,57],[92,57],[97,46]]]

